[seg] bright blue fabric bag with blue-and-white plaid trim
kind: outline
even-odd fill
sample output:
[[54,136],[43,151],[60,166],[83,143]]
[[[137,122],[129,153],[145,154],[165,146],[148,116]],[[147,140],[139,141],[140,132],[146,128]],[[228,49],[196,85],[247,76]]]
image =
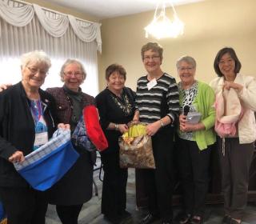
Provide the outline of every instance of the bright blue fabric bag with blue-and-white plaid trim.
[[58,129],[45,145],[14,163],[15,169],[36,190],[47,190],[74,165],[79,154],[70,141],[70,130]]

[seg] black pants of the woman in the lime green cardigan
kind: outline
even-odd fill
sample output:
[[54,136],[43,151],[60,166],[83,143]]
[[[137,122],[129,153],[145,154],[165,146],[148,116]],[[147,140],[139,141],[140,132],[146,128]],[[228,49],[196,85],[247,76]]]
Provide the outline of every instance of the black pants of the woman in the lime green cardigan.
[[186,214],[203,216],[210,180],[211,146],[199,150],[196,142],[178,138],[176,150],[183,209]]

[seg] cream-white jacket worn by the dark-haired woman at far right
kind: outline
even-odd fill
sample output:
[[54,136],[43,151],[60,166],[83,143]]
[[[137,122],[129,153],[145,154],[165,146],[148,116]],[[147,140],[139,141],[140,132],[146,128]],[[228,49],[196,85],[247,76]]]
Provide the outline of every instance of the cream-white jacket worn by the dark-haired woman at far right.
[[[244,110],[242,119],[238,122],[239,142],[240,144],[251,143],[256,139],[254,116],[254,111],[256,111],[256,80],[251,76],[237,74],[234,82],[243,86],[242,91],[238,92],[238,97],[240,98]],[[215,94],[222,91],[223,85],[223,77],[214,78],[214,80],[210,82],[210,86],[214,89]]]

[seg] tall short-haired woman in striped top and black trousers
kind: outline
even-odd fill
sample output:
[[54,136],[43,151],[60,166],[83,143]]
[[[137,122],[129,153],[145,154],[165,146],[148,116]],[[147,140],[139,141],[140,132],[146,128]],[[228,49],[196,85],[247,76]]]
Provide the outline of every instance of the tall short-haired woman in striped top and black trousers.
[[148,42],[142,46],[146,75],[138,78],[134,120],[146,122],[146,134],[152,136],[155,170],[139,170],[145,178],[149,213],[141,224],[161,218],[172,223],[173,137],[178,118],[178,88],[175,78],[162,71],[162,46]]

